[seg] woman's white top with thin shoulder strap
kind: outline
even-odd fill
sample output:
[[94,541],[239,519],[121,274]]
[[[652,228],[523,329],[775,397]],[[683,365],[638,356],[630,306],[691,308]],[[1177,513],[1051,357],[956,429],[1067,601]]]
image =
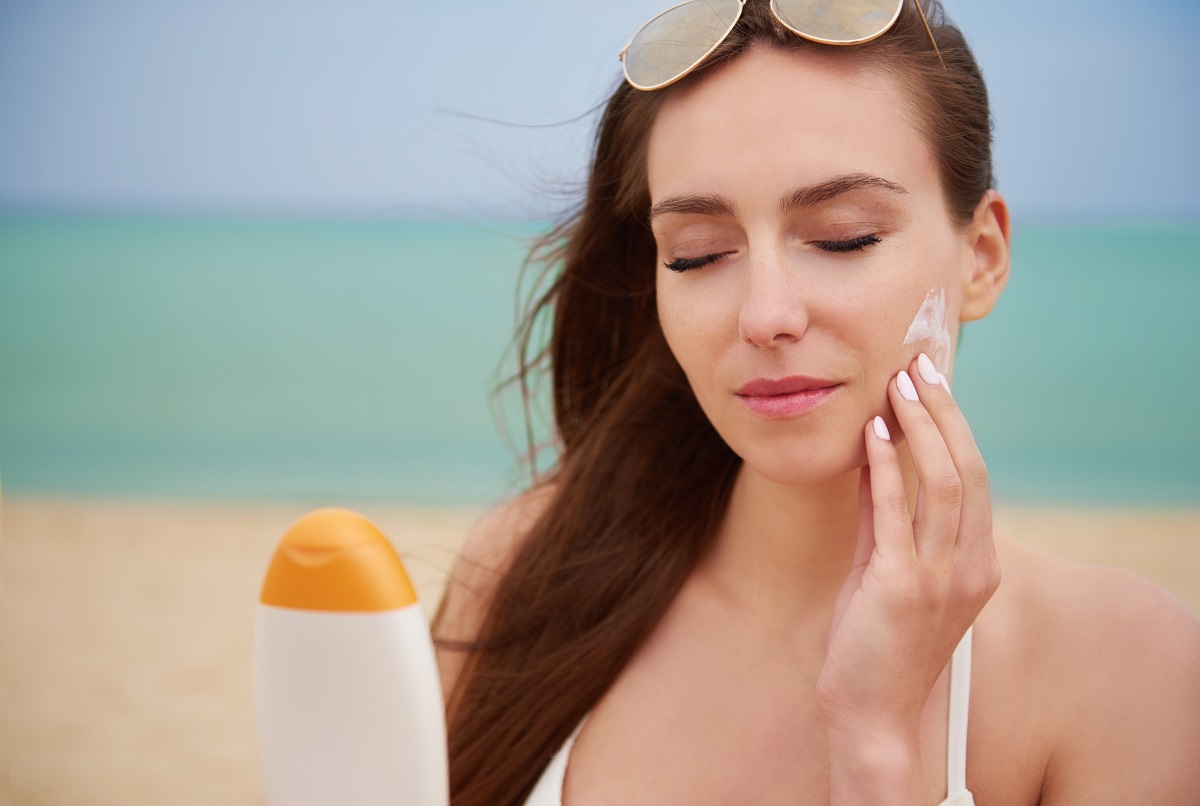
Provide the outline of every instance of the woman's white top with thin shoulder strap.
[[[967,789],[967,710],[971,698],[971,630],[962,636],[954,657],[950,658],[950,705],[946,735],[946,792],[942,806],[974,806],[974,796]],[[587,717],[575,728],[563,748],[558,751],[538,786],[529,793],[524,806],[562,806],[563,782],[566,765],[571,759],[575,739],[583,729]]]

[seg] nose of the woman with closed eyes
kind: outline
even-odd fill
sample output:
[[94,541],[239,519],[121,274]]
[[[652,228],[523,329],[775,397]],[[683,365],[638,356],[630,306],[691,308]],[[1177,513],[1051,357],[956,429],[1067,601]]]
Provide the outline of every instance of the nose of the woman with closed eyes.
[[796,267],[780,253],[755,257],[744,273],[738,335],[772,347],[799,339],[809,326],[808,303]]

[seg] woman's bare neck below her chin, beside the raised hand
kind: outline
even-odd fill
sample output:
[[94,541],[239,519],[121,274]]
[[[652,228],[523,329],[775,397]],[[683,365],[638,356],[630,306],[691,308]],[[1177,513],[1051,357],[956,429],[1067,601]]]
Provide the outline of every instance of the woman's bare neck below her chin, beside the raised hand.
[[[910,505],[916,474],[898,445]],[[858,539],[860,469],[792,487],[738,471],[728,509],[702,563],[706,575],[739,606],[792,621],[832,609],[850,572]]]

